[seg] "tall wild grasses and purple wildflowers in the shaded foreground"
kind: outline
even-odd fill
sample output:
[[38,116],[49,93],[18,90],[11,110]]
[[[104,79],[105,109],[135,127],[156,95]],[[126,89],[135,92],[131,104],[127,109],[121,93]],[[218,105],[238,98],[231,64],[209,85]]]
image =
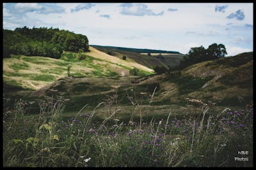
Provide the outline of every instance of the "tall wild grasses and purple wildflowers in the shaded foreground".
[[[114,87],[118,89],[118,87]],[[52,89],[52,94],[57,90]],[[148,104],[152,103],[152,93]],[[132,92],[131,92],[132,93]],[[143,98],[145,93],[141,92]],[[72,118],[63,117],[68,99],[58,95],[46,100],[15,103],[4,110],[3,165],[5,167],[247,167],[252,166],[253,105],[241,110],[214,110],[215,103],[186,99],[189,111],[177,117],[147,120],[136,96],[129,96],[129,121],[118,117],[116,107],[103,121],[96,115],[108,101],[93,111],[87,104]],[[141,99],[142,99],[141,98]],[[38,103],[38,115],[29,115],[29,106]],[[132,110],[139,108],[140,117]],[[243,110],[242,110],[243,109]],[[157,115],[157,113],[154,113]],[[118,117],[118,119],[117,119]],[[248,155],[237,152],[248,151]],[[235,160],[246,157],[246,160]]]

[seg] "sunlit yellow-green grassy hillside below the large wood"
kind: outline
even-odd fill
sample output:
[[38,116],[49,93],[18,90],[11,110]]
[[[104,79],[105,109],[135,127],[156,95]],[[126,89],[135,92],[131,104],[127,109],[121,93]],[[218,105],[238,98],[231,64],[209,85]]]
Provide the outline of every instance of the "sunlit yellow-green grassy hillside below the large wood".
[[138,63],[90,48],[90,52],[84,53],[63,52],[60,59],[12,55],[3,59],[3,80],[5,85],[37,90],[68,76],[68,67],[72,77],[128,76],[133,67],[140,69],[140,75],[153,73]]

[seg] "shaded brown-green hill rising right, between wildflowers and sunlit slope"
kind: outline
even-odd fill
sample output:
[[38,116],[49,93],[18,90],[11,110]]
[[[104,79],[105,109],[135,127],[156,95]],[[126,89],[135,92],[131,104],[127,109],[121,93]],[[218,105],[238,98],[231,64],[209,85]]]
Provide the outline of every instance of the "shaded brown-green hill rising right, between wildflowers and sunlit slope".
[[[95,51],[92,50],[93,52]],[[180,111],[180,108],[186,106],[186,98],[200,99],[204,103],[211,101],[218,106],[230,107],[244,106],[253,99],[252,52],[200,62],[170,74],[143,77],[101,76],[98,78],[93,76],[67,77],[64,74],[63,78],[38,90],[20,93],[18,96],[26,96],[27,99],[33,100],[38,97],[51,96],[50,89],[56,89],[58,92],[65,93],[65,97],[70,99],[65,112],[76,113],[83,108],[84,104],[89,104],[93,108],[100,102],[110,99],[116,92],[118,92],[118,106],[122,106],[122,108],[131,105],[128,95],[132,92],[134,96],[137,96],[137,102],[140,101],[148,106],[148,99],[157,87],[150,107],[152,110],[157,110],[160,115],[166,113],[170,108]],[[117,91],[116,86],[118,87]],[[145,97],[141,96],[141,92],[146,93]],[[10,96],[11,93],[6,92],[5,95]],[[125,115],[127,111],[123,109],[120,114]],[[102,115],[102,117],[105,116]]]

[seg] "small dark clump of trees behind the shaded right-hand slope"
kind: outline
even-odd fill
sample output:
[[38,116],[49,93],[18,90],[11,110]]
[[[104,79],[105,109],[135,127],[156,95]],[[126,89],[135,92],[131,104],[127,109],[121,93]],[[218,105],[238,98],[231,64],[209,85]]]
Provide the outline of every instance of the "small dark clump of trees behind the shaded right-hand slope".
[[204,46],[193,47],[189,50],[188,54],[180,60],[179,69],[191,66],[198,62],[203,62],[206,60],[215,60],[220,57],[225,57],[227,54],[225,45],[213,43],[207,49]]

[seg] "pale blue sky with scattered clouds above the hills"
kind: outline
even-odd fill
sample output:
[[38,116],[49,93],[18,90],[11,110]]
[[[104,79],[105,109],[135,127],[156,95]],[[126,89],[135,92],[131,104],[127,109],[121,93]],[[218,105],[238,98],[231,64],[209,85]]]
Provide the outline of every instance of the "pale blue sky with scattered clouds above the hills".
[[24,26],[83,34],[89,45],[253,51],[253,3],[3,3],[3,28]]

